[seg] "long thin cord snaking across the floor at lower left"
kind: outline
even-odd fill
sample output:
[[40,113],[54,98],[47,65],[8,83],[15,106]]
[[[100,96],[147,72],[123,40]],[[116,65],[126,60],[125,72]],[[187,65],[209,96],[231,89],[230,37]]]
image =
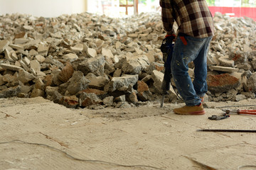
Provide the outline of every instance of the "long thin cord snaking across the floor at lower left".
[[[103,164],[110,164],[110,165],[114,165],[114,166],[129,167],[129,168],[139,167],[139,168],[159,169],[159,168],[156,168],[156,167],[154,167],[154,166],[147,166],[147,165],[124,165],[124,164],[116,164],[116,163],[105,162],[105,161],[100,161],[100,160],[79,159],[79,158],[73,157],[72,155],[68,154],[67,152],[65,152],[65,151],[63,151],[63,150],[61,150],[61,149],[57,149],[57,148],[55,148],[55,147],[50,147],[49,145],[40,144],[40,143],[25,142],[25,141],[23,141],[23,140],[11,140],[11,141],[8,141],[8,142],[0,142],[0,145],[1,145],[1,144],[11,143],[11,142],[20,142],[20,143],[28,144],[28,145],[38,145],[38,146],[41,146],[41,147],[48,147],[48,148],[53,149],[53,150],[55,150],[55,151],[62,152],[62,153],[65,154],[69,159],[73,159],[73,160],[80,161],[80,162],[97,162],[97,163],[103,163]],[[159,169],[159,170],[163,170],[163,169]]]

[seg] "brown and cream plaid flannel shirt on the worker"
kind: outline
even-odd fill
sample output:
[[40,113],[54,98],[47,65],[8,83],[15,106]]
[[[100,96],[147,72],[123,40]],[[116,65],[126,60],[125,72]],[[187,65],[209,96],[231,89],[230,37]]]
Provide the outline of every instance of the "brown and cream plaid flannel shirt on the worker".
[[174,34],[174,22],[178,33],[195,38],[213,35],[213,16],[206,0],[160,0],[161,18],[167,34]]

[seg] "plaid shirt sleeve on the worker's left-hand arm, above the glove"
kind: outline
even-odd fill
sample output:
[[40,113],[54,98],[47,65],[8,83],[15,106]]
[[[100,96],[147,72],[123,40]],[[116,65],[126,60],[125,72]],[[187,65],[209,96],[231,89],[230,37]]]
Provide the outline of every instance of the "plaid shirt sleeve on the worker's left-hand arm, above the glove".
[[174,16],[173,8],[171,8],[170,0],[160,0],[159,4],[161,6],[161,19],[163,21],[164,30],[166,30],[167,34],[174,34]]

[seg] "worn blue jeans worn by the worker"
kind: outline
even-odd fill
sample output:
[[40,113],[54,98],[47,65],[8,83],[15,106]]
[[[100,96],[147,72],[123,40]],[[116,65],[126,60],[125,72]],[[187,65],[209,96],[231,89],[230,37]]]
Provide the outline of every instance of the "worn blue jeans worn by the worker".
[[[201,98],[208,91],[207,77],[207,53],[212,37],[193,38],[183,36],[187,42],[184,45],[178,35],[174,45],[174,52],[171,59],[171,73],[178,93],[186,103],[186,106],[196,106],[201,103]],[[195,79],[191,81],[188,75],[188,63],[195,65]]]

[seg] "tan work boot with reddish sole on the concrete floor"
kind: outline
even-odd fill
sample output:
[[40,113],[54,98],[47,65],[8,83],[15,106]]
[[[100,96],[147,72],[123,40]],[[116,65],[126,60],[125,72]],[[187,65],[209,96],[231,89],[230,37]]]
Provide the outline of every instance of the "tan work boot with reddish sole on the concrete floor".
[[174,108],[174,113],[178,115],[203,115],[206,113],[203,110],[203,104],[199,106],[183,106],[182,108]]

